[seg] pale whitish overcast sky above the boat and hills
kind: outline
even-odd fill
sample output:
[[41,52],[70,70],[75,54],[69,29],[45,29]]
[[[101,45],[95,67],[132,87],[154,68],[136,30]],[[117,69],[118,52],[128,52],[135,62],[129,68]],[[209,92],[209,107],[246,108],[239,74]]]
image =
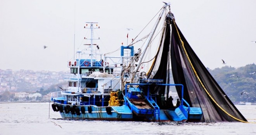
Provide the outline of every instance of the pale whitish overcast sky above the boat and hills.
[[[255,0],[165,2],[205,67],[256,63]],[[0,0],[0,69],[67,71],[86,22],[98,22],[104,54],[125,44],[128,32],[135,37],[161,7],[163,0]]]

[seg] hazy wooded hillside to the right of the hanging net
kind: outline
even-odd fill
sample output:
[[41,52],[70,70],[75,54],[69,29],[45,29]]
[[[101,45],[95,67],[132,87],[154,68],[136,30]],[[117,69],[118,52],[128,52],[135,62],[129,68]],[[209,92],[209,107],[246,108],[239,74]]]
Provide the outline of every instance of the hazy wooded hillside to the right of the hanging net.
[[[254,92],[254,88],[256,88],[255,64],[248,64],[237,69],[224,66],[209,70],[209,72],[234,103],[239,101],[256,102],[256,93]],[[243,91],[248,94],[241,95]]]

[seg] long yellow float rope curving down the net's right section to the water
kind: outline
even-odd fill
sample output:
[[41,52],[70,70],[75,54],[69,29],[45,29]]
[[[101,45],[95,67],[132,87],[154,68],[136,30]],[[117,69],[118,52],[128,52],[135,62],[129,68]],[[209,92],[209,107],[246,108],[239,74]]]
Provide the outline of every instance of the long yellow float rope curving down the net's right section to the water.
[[235,120],[237,120],[237,121],[239,121],[239,122],[249,123],[249,122],[246,122],[246,121],[244,121],[244,120],[240,120],[240,119],[235,118],[234,116],[230,115],[227,111],[225,111],[225,110],[213,99],[213,97],[210,95],[210,93],[209,93],[208,90],[205,88],[204,84],[202,83],[201,79],[199,78],[197,72],[195,71],[195,68],[194,68],[192,62],[190,61],[189,55],[187,54],[187,51],[186,51],[185,46],[184,46],[184,42],[182,41],[182,39],[181,39],[181,37],[180,37],[180,34],[179,34],[179,32],[178,32],[178,29],[177,29],[175,20],[173,20],[173,24],[175,25],[175,29],[176,29],[176,31],[177,31],[177,33],[178,33],[178,37],[179,37],[179,39],[180,39],[180,42],[182,43],[182,48],[183,48],[183,50],[184,50],[184,52],[185,52],[185,54],[186,54],[186,57],[187,57],[187,59],[188,59],[188,61],[189,61],[189,64],[190,64],[190,66],[191,66],[191,68],[192,68],[192,70],[193,70],[193,72],[194,72],[194,74],[195,74],[197,80],[199,81],[199,83],[201,84],[201,86],[204,88],[204,91],[207,93],[207,95],[208,95],[208,96],[211,98],[211,100],[212,100],[224,113],[226,113],[228,116],[230,116],[231,118],[234,118]]

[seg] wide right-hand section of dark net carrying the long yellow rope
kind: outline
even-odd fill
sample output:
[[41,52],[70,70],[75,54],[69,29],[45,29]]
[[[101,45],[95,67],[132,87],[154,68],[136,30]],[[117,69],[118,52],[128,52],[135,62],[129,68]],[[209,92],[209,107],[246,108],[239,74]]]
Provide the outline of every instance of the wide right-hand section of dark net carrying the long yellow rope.
[[[204,67],[175,22],[171,28],[173,79],[175,84],[184,85],[183,98],[189,105],[202,108],[201,122],[247,122]],[[176,90],[181,98],[181,88],[176,87]]]

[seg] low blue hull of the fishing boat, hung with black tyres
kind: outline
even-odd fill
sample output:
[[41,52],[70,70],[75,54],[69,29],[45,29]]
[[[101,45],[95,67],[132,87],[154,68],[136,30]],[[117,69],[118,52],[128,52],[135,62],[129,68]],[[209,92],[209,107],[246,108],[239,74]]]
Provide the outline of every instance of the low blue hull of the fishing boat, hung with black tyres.
[[[187,108],[185,106],[180,106],[179,108],[173,110],[160,110],[157,115],[154,116],[137,116],[134,114],[130,108],[126,105],[123,106],[111,106],[111,107],[98,107],[94,105],[88,106],[69,106],[70,109],[67,110],[67,105],[63,104],[53,104],[57,107],[62,118],[74,119],[74,120],[109,120],[109,121],[147,121],[147,122],[186,122],[188,119],[186,115],[180,111],[179,108]],[[71,109],[73,108],[73,109]],[[78,111],[79,108],[79,111]],[[84,110],[82,109],[84,108]],[[193,110],[193,108],[190,108]],[[202,114],[201,114],[202,115]],[[200,120],[200,114],[190,115],[191,120]],[[193,117],[197,116],[197,117]]]

